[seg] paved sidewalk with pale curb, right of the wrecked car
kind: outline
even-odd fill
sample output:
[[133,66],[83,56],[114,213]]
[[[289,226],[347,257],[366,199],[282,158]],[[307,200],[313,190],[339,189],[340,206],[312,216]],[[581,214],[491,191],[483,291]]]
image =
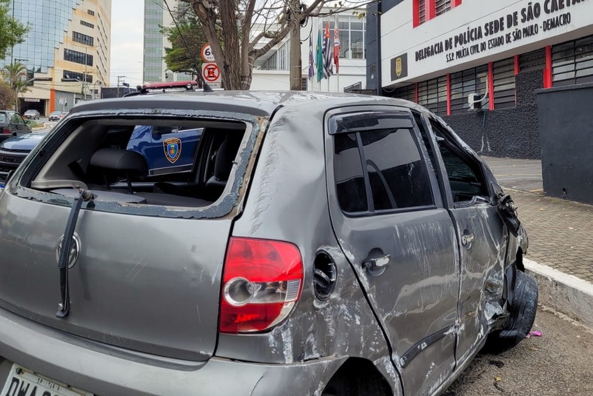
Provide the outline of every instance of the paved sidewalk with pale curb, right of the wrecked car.
[[483,159],[518,206],[540,302],[593,327],[593,206],[544,196],[539,161]]

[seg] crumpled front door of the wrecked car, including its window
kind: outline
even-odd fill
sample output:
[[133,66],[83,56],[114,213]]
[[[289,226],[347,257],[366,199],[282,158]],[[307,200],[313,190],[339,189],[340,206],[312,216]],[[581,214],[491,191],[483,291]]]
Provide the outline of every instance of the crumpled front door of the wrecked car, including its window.
[[504,314],[504,258],[508,232],[497,205],[493,205],[488,178],[471,149],[449,129],[429,117],[440,156],[446,200],[455,222],[460,246],[458,363],[472,355],[490,325]]

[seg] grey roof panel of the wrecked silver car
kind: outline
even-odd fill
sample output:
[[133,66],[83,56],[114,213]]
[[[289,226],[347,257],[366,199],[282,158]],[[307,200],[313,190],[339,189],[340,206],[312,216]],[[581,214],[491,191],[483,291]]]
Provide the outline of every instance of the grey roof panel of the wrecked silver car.
[[[75,105],[71,115],[80,112],[127,109],[163,108],[171,110],[195,109],[200,104],[202,110],[242,112],[251,115],[270,116],[279,107],[296,107],[315,102],[316,106],[336,108],[340,105],[389,104],[417,108],[415,103],[402,99],[359,94],[337,94],[313,91],[181,91],[158,94],[144,94],[124,98],[101,99]],[[119,112],[123,114],[123,112]]]

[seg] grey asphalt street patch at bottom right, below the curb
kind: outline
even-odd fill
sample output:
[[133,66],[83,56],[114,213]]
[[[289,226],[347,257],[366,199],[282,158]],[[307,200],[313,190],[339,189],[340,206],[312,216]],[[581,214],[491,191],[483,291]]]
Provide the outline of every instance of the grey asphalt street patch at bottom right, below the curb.
[[533,330],[542,337],[478,355],[444,395],[593,395],[593,332],[542,308]]

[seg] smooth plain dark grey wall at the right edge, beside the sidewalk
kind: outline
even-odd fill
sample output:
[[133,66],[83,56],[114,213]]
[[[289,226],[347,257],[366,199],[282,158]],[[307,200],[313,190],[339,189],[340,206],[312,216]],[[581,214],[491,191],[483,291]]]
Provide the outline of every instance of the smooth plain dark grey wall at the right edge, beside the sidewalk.
[[543,191],[593,204],[593,84],[537,91]]

